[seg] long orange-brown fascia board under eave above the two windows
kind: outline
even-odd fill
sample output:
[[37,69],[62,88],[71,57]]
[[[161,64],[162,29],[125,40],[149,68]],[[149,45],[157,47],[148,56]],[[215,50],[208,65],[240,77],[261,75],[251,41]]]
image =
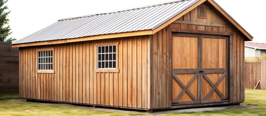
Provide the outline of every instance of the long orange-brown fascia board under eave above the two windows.
[[52,40],[52,41],[44,41],[44,42],[34,42],[34,43],[20,43],[20,44],[12,44],[12,47],[26,47],[26,46],[48,45],[48,44],[73,43],[73,42],[120,38],[120,37],[129,37],[129,36],[141,36],[141,35],[152,35],[152,30],[149,29],[149,30],[140,30],[140,31],[133,31],[133,32],[112,33],[112,34],[95,35],[95,36],[87,36],[87,37],[80,37],[80,38],[73,38],[73,39],[63,39],[63,40]]

